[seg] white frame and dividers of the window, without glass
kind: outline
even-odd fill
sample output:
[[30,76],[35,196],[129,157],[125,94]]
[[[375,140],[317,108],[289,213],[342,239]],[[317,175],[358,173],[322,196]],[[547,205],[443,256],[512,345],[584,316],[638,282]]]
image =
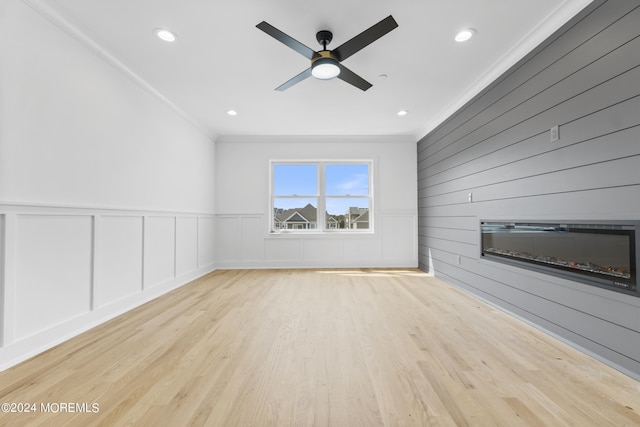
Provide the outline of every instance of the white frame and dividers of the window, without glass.
[[[325,169],[327,165],[355,165],[355,164],[366,164],[368,166],[369,171],[369,194],[367,195],[327,195],[326,194],[326,182],[325,182]],[[306,195],[275,195],[274,194],[274,179],[273,179],[273,171],[274,167],[277,165],[315,165],[317,172],[317,183],[318,188],[316,189],[317,194],[306,194]],[[329,159],[329,160],[270,160],[269,161],[269,233],[273,234],[304,234],[304,235],[313,235],[313,234],[373,234],[374,232],[374,162],[372,159]],[[316,198],[318,201],[317,208],[317,226],[316,228],[304,229],[304,230],[295,230],[295,229],[286,229],[286,228],[276,228],[275,227],[275,206],[274,199],[282,199],[282,198],[291,198],[291,199],[309,199]],[[329,228],[327,226],[327,218],[326,218],[326,199],[327,198],[345,198],[345,199],[367,199],[369,206],[369,228],[367,229],[347,229],[347,228]]]

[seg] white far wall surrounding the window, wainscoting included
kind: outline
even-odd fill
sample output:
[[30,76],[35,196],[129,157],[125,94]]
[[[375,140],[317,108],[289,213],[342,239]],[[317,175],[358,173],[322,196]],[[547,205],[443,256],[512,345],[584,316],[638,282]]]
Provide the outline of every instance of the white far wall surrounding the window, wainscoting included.
[[[269,161],[288,159],[373,160],[375,232],[269,234]],[[416,267],[416,165],[411,137],[221,137],[216,141],[216,265]]]

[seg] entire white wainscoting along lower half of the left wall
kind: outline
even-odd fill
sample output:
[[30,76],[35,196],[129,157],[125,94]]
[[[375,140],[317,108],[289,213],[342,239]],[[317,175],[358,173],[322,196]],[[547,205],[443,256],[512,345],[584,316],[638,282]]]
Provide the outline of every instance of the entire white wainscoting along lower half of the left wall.
[[0,204],[0,370],[214,269],[214,216]]

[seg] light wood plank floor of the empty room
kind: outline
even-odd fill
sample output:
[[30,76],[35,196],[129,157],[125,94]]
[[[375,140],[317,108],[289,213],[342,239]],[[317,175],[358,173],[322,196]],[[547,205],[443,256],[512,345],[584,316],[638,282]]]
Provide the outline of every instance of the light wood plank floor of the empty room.
[[99,405],[11,426],[640,426],[639,382],[417,270],[216,271],[0,373],[0,402]]

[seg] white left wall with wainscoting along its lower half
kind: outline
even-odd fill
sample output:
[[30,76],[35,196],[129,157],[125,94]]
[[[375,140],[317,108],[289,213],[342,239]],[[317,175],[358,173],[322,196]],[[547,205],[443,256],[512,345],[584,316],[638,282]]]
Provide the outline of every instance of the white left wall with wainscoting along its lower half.
[[215,149],[19,0],[0,43],[3,369],[213,269]]

